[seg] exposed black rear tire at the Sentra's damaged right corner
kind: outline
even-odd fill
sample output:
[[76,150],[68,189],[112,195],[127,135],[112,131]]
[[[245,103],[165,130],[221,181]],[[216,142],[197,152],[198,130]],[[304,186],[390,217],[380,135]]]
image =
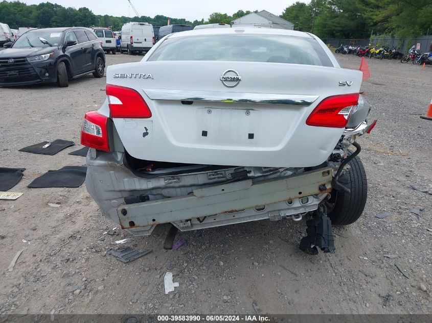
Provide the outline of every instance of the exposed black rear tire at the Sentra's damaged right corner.
[[350,189],[331,192],[330,200],[326,202],[328,217],[334,226],[347,226],[358,220],[365,209],[368,196],[368,182],[365,167],[356,156],[349,163],[350,170],[339,177],[339,182]]

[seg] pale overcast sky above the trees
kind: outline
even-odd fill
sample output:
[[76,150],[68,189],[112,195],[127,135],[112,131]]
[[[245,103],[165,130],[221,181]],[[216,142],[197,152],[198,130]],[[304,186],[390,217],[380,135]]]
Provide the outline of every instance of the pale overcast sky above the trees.
[[[28,5],[37,5],[42,2],[57,3],[63,7],[87,7],[97,15],[135,16],[128,0],[20,0]],[[164,15],[172,18],[186,18],[189,21],[201,18],[207,19],[213,12],[228,13],[232,15],[238,10],[267,10],[280,15],[286,7],[296,0],[131,0],[140,16],[154,17]]]

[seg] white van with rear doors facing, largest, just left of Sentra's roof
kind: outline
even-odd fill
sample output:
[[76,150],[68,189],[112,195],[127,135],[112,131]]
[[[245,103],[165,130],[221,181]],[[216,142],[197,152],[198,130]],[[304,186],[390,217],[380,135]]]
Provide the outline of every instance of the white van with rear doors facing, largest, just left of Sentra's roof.
[[148,52],[154,45],[153,26],[147,22],[127,22],[122,27],[120,53]]

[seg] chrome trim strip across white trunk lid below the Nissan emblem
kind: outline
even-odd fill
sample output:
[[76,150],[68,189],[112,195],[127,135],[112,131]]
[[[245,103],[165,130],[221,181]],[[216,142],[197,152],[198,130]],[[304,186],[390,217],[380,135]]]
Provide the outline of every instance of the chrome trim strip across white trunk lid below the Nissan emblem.
[[218,91],[143,89],[151,100],[204,101],[223,103],[278,104],[310,106],[318,95],[262,94]]

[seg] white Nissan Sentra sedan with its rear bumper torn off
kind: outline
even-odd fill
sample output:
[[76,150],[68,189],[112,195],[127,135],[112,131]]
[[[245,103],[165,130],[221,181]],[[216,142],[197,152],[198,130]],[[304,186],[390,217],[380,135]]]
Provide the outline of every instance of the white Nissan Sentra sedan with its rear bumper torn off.
[[316,36],[175,33],[106,75],[106,100],[82,126],[86,187],[131,234],[305,218],[300,249],[331,252],[332,225],[360,217],[367,180],[355,139],[376,121],[362,72],[341,68]]

